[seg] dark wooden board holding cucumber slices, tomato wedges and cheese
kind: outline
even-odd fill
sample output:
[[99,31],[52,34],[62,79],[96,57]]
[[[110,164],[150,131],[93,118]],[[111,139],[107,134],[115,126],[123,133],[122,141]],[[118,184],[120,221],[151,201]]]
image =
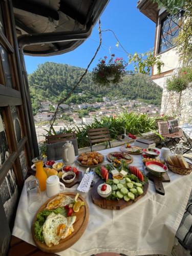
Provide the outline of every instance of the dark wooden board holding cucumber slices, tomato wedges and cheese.
[[99,207],[103,209],[109,209],[109,210],[120,210],[123,209],[126,206],[132,205],[133,203],[137,202],[141,197],[143,197],[148,189],[148,183],[146,183],[143,186],[143,194],[136,197],[135,200],[129,200],[128,202],[125,202],[123,199],[120,199],[119,201],[115,200],[106,200],[103,197],[100,197],[97,193],[97,187],[99,184],[103,183],[103,180],[99,180],[95,186],[91,189],[91,198],[94,204],[98,205]]

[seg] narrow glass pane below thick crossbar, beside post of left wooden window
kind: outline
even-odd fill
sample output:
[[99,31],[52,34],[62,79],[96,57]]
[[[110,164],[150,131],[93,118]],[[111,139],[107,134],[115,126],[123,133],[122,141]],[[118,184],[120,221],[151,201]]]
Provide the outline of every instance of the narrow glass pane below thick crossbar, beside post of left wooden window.
[[21,129],[21,125],[20,125],[20,118],[18,115],[17,107],[11,106],[10,108],[11,108],[11,116],[12,116],[12,120],[13,120],[16,141],[18,143],[23,138],[22,129]]

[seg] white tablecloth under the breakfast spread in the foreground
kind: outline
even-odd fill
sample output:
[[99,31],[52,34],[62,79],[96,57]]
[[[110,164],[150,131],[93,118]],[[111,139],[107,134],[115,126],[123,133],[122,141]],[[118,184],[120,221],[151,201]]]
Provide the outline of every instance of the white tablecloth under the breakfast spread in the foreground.
[[[103,150],[103,155],[118,151],[119,147]],[[143,169],[141,156],[134,156],[132,165]],[[79,167],[79,169],[81,169]],[[69,249],[58,252],[65,256],[90,256],[100,252],[116,252],[126,255],[168,255],[174,245],[176,231],[181,222],[189,198],[192,175],[181,176],[168,172],[170,183],[163,183],[165,196],[155,192],[149,181],[147,194],[135,204],[121,210],[101,209],[93,204],[90,193],[82,194],[88,202],[90,218],[82,237]],[[29,177],[32,179],[33,176]],[[94,177],[98,180],[98,177]],[[76,192],[78,185],[66,191]],[[48,198],[43,194],[43,202]],[[31,224],[35,213],[27,210],[27,193],[24,185],[19,200],[12,234],[34,244]]]

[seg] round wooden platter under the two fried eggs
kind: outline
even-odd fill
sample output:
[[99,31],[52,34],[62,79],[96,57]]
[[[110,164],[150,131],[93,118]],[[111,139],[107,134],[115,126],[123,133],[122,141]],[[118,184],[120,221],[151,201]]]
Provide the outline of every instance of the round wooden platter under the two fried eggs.
[[[60,194],[65,194],[71,198],[75,198],[76,194],[75,193],[60,193]],[[37,214],[38,212],[44,210],[46,208],[46,205],[48,204],[48,202],[50,200],[52,200],[53,198],[55,198],[57,195],[53,196],[52,198],[50,198],[47,202],[45,202],[37,211],[35,218],[33,220],[33,224],[32,224],[32,235],[33,235],[33,240],[36,244],[36,246],[45,252],[50,252],[50,253],[54,253],[54,252],[59,252],[59,251],[63,251],[66,250],[67,248],[71,247],[73,244],[75,244],[79,238],[82,236],[84,230],[86,230],[86,227],[88,225],[88,221],[89,221],[89,207],[88,204],[86,202],[86,200],[79,195],[78,200],[80,199],[81,201],[83,201],[85,203],[84,206],[81,206],[78,212],[75,212],[75,216],[76,221],[73,224],[73,228],[74,228],[74,232],[67,238],[60,240],[58,245],[53,245],[51,247],[47,246],[45,243],[41,243],[39,240],[37,240],[35,238],[34,235],[34,223],[37,219]]]

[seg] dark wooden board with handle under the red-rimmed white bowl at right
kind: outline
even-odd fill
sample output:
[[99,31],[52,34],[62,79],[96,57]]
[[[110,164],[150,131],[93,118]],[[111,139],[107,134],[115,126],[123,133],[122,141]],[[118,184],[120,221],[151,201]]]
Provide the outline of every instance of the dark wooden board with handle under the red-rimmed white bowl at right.
[[164,196],[165,190],[163,187],[162,182],[170,182],[170,178],[167,173],[163,174],[162,176],[158,177],[150,173],[147,168],[145,167],[145,175],[154,182],[155,190],[158,194]]

